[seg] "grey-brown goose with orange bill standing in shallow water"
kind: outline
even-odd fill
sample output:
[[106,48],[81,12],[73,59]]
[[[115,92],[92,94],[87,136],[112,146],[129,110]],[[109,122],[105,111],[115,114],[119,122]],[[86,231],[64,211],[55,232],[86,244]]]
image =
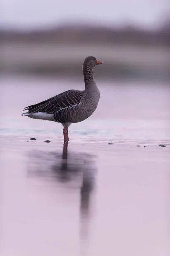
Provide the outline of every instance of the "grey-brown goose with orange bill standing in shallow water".
[[82,122],[94,113],[97,108],[100,92],[94,81],[92,67],[102,64],[95,57],[85,58],[83,75],[84,90],[68,90],[50,99],[24,108],[22,116],[34,119],[51,120],[63,125],[64,142],[68,142],[68,127],[72,123]]

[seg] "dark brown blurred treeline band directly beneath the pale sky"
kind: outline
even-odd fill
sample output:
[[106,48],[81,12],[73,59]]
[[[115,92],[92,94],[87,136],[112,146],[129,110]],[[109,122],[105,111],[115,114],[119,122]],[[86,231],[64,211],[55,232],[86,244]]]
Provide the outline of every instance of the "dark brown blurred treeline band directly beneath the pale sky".
[[156,31],[144,30],[133,26],[111,29],[85,25],[65,25],[28,32],[1,30],[0,42],[6,41],[170,46],[170,22]]

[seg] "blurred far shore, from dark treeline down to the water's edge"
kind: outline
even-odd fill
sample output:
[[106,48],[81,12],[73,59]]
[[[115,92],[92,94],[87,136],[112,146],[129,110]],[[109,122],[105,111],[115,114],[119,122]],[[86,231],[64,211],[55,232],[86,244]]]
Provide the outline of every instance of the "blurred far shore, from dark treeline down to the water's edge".
[[1,73],[82,77],[82,63],[94,55],[103,79],[169,80],[169,28],[108,29],[61,26],[41,31],[0,31]]

